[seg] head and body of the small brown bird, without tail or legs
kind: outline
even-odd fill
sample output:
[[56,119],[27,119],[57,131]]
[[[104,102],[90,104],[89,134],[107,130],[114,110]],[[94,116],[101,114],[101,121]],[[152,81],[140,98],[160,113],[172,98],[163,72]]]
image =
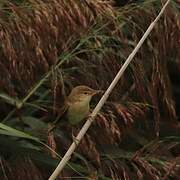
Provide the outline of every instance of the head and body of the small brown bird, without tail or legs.
[[81,122],[89,113],[91,98],[102,92],[88,86],[76,86],[66,100],[66,117],[71,125]]

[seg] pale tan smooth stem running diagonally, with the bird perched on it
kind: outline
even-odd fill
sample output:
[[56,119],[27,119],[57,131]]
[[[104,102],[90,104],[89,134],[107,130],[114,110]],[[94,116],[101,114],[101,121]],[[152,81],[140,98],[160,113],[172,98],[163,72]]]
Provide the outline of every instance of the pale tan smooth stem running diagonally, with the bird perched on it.
[[81,139],[84,137],[84,135],[86,134],[87,130],[89,129],[91,123],[93,122],[93,120],[95,119],[97,113],[100,111],[100,109],[102,108],[102,106],[104,105],[104,103],[106,102],[107,98],[109,97],[110,93],[112,92],[112,90],[114,89],[114,87],[116,86],[116,84],[118,83],[119,79],[121,78],[121,76],[123,75],[124,71],[126,70],[126,68],[128,67],[128,65],[130,64],[130,62],[132,61],[133,57],[136,55],[136,53],[138,52],[139,48],[142,46],[142,44],[144,43],[144,41],[146,40],[146,38],[148,37],[148,35],[150,34],[151,30],[154,28],[154,26],[156,25],[157,21],[159,20],[159,18],[162,16],[164,10],[166,9],[167,5],[169,4],[170,0],[167,0],[166,4],[163,6],[163,8],[161,9],[160,13],[158,14],[158,16],[156,17],[156,19],[150,24],[150,26],[148,27],[148,29],[146,30],[146,32],[144,33],[143,37],[140,39],[140,41],[138,42],[137,46],[134,48],[134,50],[132,51],[132,53],[129,55],[129,57],[127,58],[127,60],[125,61],[125,63],[123,64],[123,66],[121,67],[121,69],[119,70],[119,72],[117,73],[116,77],[114,78],[114,80],[112,81],[112,83],[110,84],[110,86],[108,87],[108,89],[106,90],[106,92],[104,93],[104,95],[102,96],[102,98],[100,99],[100,101],[98,102],[98,104],[96,105],[95,109],[93,110],[93,112],[91,113],[90,117],[88,118],[88,120],[86,121],[86,123],[84,124],[84,126],[82,127],[82,129],[80,130],[80,132],[78,133],[77,137],[75,138],[74,142],[71,144],[71,146],[69,147],[69,149],[67,150],[66,154],[64,155],[64,157],[62,158],[62,160],[60,161],[60,163],[58,164],[58,166],[56,167],[56,169],[54,170],[54,172],[52,173],[52,175],[50,176],[49,180],[55,180],[57,178],[57,176],[59,175],[59,173],[62,171],[62,169],[64,168],[64,166],[66,165],[66,163],[69,161],[69,159],[71,158],[71,155],[73,154],[74,150],[76,149],[76,147],[78,146],[78,144],[80,143]]

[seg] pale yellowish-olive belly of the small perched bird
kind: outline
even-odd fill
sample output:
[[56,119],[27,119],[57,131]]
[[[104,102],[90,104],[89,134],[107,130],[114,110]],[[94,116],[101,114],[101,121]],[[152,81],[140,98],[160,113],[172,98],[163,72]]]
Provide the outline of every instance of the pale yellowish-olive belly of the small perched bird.
[[89,106],[75,105],[70,106],[67,111],[67,117],[70,124],[75,125],[82,121],[89,112]]

